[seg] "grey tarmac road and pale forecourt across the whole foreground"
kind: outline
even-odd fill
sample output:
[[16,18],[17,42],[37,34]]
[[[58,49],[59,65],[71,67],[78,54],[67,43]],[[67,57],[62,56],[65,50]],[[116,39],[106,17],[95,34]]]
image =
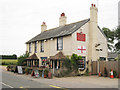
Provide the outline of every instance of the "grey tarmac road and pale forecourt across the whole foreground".
[[[113,83],[111,85],[104,85],[106,82],[102,78],[89,78],[89,77],[76,77],[75,79],[67,79],[67,78],[54,78],[54,79],[44,79],[44,78],[32,78],[30,75],[20,75],[15,74],[13,72],[8,72],[5,70],[5,68],[0,67],[0,69],[3,69],[2,75],[0,74],[0,77],[2,77],[2,81],[0,81],[0,84],[2,84],[2,90],[9,90],[12,88],[12,90],[17,90],[16,88],[22,89],[22,90],[34,90],[37,88],[37,90],[118,90],[115,87],[117,87],[116,83],[114,82],[116,80],[107,80],[107,83],[109,81],[112,81]],[[84,80],[82,79],[84,78]],[[85,79],[88,78],[88,79]],[[97,80],[100,79],[100,80]],[[95,83],[90,83],[88,81],[93,81]],[[103,84],[100,85],[100,83],[96,82],[100,81]],[[86,81],[86,82],[85,82]],[[111,87],[110,87],[111,86]],[[83,89],[89,87],[89,89]],[[107,88],[108,89],[103,89]],[[9,89],[6,89],[9,88]],[[15,89],[14,89],[15,88]],[[91,89],[90,89],[91,88]],[[94,88],[94,89],[93,89]],[[102,89],[96,89],[96,88],[102,88]],[[114,88],[114,89],[110,89]],[[11,89],[10,89],[11,90]]]

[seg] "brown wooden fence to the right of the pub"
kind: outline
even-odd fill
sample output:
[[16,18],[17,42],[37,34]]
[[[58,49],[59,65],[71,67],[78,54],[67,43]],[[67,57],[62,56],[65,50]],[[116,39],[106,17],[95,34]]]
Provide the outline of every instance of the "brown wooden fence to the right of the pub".
[[[119,63],[120,64],[120,63]],[[92,74],[96,75],[98,74],[98,72],[101,72],[102,75],[104,75],[104,68],[106,68],[108,75],[110,72],[110,69],[112,69],[113,71],[116,71],[117,73],[119,73],[120,67],[118,67],[118,61],[93,61],[92,62]]]

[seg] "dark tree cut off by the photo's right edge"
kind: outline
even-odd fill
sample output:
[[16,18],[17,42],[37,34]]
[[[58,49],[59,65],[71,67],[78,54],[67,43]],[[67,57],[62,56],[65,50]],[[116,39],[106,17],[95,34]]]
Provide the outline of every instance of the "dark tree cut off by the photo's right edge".
[[115,39],[117,43],[115,44],[115,51],[120,53],[120,26],[115,30]]

